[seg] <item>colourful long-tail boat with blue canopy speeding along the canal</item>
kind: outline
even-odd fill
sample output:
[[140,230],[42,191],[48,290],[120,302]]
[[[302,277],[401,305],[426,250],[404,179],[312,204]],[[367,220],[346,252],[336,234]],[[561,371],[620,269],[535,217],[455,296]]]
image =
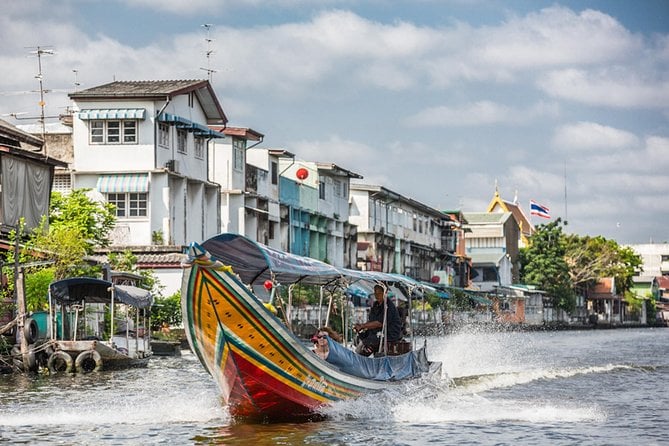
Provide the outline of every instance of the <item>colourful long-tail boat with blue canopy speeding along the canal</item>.
[[397,283],[401,277],[335,268],[221,234],[189,247],[182,286],[186,334],[234,418],[318,419],[333,402],[440,375],[441,364],[427,360],[425,346],[368,358],[332,339],[323,360],[252,290],[267,281],[335,286],[361,278]]

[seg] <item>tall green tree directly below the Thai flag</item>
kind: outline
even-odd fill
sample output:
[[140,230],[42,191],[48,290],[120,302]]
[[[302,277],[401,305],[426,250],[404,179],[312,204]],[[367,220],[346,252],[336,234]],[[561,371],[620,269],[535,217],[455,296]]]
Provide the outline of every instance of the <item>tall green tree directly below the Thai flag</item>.
[[555,307],[571,312],[576,305],[576,295],[565,261],[566,248],[561,219],[537,226],[530,245],[520,252],[520,278],[547,291]]

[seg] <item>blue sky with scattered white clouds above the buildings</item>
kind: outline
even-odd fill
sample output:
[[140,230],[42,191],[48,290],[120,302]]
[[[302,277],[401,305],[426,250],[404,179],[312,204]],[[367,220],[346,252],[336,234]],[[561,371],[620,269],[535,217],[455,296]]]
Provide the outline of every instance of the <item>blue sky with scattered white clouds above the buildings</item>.
[[[4,0],[0,117],[207,79],[262,147],[440,210],[499,190],[566,233],[669,242],[669,1]],[[207,25],[207,26],[204,26]],[[209,57],[207,57],[209,53]],[[211,71],[207,71],[211,70]],[[15,117],[21,119],[15,119]],[[53,121],[53,120],[51,120]]]

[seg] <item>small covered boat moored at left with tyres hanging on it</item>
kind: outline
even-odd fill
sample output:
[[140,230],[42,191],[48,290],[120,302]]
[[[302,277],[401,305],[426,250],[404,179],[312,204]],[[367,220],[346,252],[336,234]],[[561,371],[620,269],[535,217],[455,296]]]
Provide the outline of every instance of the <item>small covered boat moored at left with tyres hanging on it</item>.
[[151,293],[91,277],[49,286],[46,342],[50,373],[145,367],[151,357]]

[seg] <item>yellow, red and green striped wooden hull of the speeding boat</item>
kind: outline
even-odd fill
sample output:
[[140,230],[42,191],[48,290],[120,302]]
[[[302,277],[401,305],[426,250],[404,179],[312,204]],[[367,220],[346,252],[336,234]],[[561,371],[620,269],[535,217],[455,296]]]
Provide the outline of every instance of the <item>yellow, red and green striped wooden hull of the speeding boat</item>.
[[287,330],[228,267],[195,260],[184,271],[188,341],[233,417],[318,418],[319,409],[399,385],[342,373]]

